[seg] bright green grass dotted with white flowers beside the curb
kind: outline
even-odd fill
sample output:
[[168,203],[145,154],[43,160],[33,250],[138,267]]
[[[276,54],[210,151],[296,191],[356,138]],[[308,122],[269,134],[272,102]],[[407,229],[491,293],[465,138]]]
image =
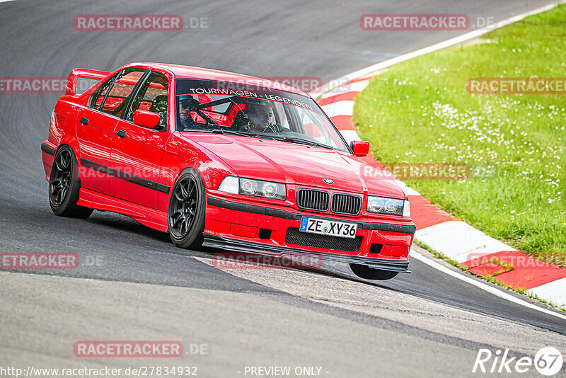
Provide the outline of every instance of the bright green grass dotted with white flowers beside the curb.
[[566,95],[470,94],[471,77],[566,77],[566,6],[382,72],[354,124],[383,163],[461,163],[408,185],[486,234],[566,266]]

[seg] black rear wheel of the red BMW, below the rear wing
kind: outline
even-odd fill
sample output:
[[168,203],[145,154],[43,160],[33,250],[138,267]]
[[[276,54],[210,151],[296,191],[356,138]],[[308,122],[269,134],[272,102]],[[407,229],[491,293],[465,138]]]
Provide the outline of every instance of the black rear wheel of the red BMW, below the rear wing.
[[49,178],[49,204],[61,217],[86,219],[93,209],[76,205],[79,200],[81,178],[73,149],[61,146],[53,159]]

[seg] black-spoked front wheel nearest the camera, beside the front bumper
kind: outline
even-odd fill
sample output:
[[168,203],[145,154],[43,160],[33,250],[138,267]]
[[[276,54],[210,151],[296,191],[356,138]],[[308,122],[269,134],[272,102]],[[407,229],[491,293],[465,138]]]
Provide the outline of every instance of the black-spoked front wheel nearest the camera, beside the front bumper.
[[173,186],[169,200],[169,236],[175,246],[197,249],[202,246],[206,192],[198,171],[187,168]]

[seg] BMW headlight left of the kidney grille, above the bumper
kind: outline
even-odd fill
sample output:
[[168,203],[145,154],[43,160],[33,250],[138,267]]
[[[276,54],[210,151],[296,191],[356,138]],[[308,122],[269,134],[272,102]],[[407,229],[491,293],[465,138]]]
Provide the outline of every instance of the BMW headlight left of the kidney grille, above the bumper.
[[226,193],[274,198],[275,200],[285,200],[287,196],[287,187],[285,184],[252,180],[251,178],[237,178],[234,176],[226,176],[220,183],[218,190]]

